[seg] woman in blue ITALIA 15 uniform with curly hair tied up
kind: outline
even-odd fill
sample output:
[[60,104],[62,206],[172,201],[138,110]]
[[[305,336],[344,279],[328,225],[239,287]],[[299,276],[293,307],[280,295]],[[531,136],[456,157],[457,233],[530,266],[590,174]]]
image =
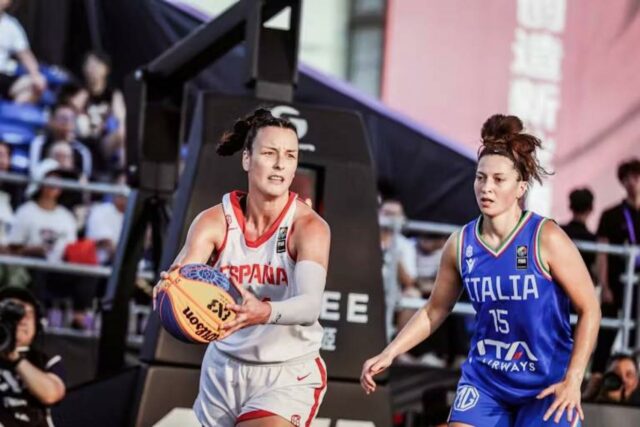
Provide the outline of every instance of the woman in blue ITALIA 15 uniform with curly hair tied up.
[[[476,327],[450,426],[580,425],[580,385],[600,309],[575,245],[556,223],[520,207],[531,182],[546,174],[536,159],[540,145],[515,116],[485,122],[474,184],[482,215],[447,241],[429,301],[365,362],[367,393],[376,374],[442,324],[465,290]],[[575,343],[570,304],[578,313]]]

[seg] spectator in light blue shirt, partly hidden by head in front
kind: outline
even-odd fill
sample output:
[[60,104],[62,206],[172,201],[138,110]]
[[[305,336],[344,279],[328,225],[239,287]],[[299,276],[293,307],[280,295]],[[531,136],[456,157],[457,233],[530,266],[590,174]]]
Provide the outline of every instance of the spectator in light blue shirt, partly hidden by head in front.
[[29,148],[30,174],[33,176],[37,165],[46,158],[55,143],[68,144],[73,150],[74,168],[85,177],[91,176],[91,152],[75,135],[76,114],[72,107],[57,104],[51,111],[51,117],[44,135],[37,136]]

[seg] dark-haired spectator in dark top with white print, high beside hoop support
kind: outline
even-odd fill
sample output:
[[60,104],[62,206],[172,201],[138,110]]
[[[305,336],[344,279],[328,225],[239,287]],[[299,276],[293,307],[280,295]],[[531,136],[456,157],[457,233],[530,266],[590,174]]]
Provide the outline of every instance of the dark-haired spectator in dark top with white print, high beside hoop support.
[[94,147],[96,179],[111,181],[114,169],[123,166],[125,103],[122,93],[109,85],[111,61],[100,52],[89,52],[82,72],[89,92],[90,126],[85,140]]

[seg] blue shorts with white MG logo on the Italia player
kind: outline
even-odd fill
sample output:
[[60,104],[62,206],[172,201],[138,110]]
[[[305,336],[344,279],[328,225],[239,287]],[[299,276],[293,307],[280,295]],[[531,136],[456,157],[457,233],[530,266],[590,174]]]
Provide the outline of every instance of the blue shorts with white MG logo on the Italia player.
[[553,421],[555,413],[546,422],[543,421],[542,417],[553,399],[553,395],[541,400],[534,397],[518,405],[511,405],[461,379],[451,407],[449,423],[458,422],[478,427],[582,426],[577,411],[574,411],[571,422],[567,420],[566,412],[562,414],[558,424]]

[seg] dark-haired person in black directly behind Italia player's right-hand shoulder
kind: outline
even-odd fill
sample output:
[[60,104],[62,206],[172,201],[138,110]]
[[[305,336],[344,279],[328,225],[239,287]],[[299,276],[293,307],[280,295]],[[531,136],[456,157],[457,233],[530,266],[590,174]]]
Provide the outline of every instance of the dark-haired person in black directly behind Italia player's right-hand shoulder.
[[[571,221],[562,226],[567,236],[572,240],[585,240],[595,242],[596,235],[587,228],[587,220],[593,212],[593,193],[588,188],[576,188],[569,193],[569,209],[571,209]],[[589,271],[595,268],[595,252],[580,251],[585,265]]]

